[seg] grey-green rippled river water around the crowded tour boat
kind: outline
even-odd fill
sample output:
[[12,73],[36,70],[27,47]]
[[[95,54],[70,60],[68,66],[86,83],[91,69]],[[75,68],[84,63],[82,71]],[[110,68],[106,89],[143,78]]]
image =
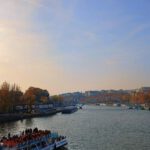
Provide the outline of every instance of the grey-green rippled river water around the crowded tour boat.
[[84,106],[73,114],[0,124],[0,136],[26,128],[67,136],[68,150],[150,150],[150,111]]

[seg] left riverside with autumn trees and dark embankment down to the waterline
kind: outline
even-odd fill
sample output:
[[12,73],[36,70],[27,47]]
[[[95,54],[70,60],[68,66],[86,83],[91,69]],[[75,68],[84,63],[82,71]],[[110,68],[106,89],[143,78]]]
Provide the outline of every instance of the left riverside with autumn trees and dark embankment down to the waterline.
[[54,115],[59,110],[53,107],[62,103],[62,97],[50,97],[47,90],[29,87],[24,93],[16,84],[3,82],[0,85],[0,123]]

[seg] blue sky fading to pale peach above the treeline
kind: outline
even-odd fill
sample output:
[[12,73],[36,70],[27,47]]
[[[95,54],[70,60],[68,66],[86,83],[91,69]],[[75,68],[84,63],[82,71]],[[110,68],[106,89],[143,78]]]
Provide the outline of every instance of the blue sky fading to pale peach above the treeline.
[[0,0],[0,84],[50,94],[150,86],[149,0]]

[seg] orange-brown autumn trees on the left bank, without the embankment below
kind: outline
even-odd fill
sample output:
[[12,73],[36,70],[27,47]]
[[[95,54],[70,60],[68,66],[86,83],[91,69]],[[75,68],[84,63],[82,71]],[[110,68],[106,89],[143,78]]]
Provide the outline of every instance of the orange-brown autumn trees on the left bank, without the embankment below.
[[[35,107],[40,105],[59,105],[63,98],[59,95],[51,96],[47,90],[29,87],[24,93],[16,84],[10,85],[3,82],[0,85],[0,114],[18,113],[17,107],[21,107],[21,113],[33,113]],[[34,106],[34,107],[33,107]],[[37,110],[42,110],[42,108]]]

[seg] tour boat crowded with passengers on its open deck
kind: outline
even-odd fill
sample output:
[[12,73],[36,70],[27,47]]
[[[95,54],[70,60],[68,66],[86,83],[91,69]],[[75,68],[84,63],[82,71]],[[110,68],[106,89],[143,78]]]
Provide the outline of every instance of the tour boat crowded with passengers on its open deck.
[[18,135],[0,139],[0,150],[57,150],[67,145],[65,136],[50,130],[26,129]]

